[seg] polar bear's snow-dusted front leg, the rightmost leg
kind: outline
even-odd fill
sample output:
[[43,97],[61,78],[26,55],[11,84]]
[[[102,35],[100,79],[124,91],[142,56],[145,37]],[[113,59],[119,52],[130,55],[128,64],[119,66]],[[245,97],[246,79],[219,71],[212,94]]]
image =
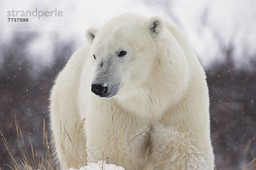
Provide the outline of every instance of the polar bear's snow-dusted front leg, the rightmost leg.
[[212,170],[212,150],[209,141],[198,133],[177,127],[155,126],[151,135],[150,170]]

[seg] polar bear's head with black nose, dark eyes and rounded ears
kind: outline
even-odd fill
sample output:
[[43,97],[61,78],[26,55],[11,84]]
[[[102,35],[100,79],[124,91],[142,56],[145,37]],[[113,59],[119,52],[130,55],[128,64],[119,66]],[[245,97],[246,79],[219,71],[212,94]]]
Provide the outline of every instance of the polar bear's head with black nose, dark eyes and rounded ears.
[[168,52],[163,40],[166,30],[160,17],[132,13],[122,14],[100,29],[89,28],[86,37],[94,68],[91,91],[105,98],[136,95],[157,66],[160,48]]

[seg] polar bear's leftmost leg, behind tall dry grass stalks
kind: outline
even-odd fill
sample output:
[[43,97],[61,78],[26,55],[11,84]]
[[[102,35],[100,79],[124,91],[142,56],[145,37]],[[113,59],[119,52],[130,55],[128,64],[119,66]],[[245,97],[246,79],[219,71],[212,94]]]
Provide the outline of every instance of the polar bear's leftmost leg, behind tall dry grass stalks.
[[[84,121],[77,112],[64,112],[62,108],[54,107],[52,102],[51,126],[53,147],[63,169],[80,168],[86,165],[86,137],[83,130]],[[57,104],[56,104],[57,105]],[[67,108],[65,108],[67,111]],[[64,114],[64,113],[67,113]]]

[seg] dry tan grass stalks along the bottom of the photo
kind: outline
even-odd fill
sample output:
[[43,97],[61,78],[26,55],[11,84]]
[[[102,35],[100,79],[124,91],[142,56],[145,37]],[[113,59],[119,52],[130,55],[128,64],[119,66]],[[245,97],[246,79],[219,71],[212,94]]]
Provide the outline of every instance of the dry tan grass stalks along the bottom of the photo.
[[[113,107],[111,107],[111,109],[113,111]],[[168,111],[166,111],[166,113],[164,113],[163,117],[160,119],[158,128],[160,127],[160,124],[166,119],[166,115],[167,115],[167,113],[169,113],[170,110],[171,109],[169,109]],[[112,113],[112,123],[113,123],[113,116],[115,115],[115,113]],[[75,125],[75,134],[79,134],[80,130],[83,130],[83,125],[84,125],[84,120],[80,123],[79,126],[77,126],[77,124]],[[27,148],[26,148],[25,143],[24,143],[23,135],[22,135],[22,133],[20,131],[19,125],[17,124],[16,117],[15,117],[15,126],[16,126],[16,131],[17,131],[17,140],[19,142],[20,152],[22,154],[22,158],[21,159],[17,159],[17,158],[15,158],[13,156],[12,152],[10,151],[11,149],[10,149],[6,139],[4,138],[3,134],[0,131],[3,143],[5,144],[6,149],[8,150],[9,156],[12,159],[12,162],[8,165],[9,167],[11,167],[12,170],[60,170],[60,168],[56,164],[56,161],[55,161],[54,157],[52,156],[53,154],[52,154],[52,151],[51,151],[51,148],[55,148],[55,139],[54,139],[54,137],[52,137],[50,140],[48,139],[47,132],[45,131],[45,121],[44,121],[44,125],[43,125],[44,152],[42,153],[42,155],[40,157],[38,156],[38,153],[36,152],[36,150],[34,150],[32,142],[30,140],[30,136],[29,136],[30,150],[32,152],[32,157],[29,158],[29,154],[27,152]],[[61,127],[61,124],[60,124],[60,127]],[[126,144],[123,147],[120,147],[120,139],[122,137],[122,133],[121,133],[120,136],[119,136],[119,146],[118,146],[119,147],[119,151],[117,153],[117,157],[114,160],[114,163],[118,165],[119,164],[119,158],[122,155],[123,151],[126,149],[126,147],[128,147],[128,145],[134,139],[136,139],[138,136],[145,135],[146,133],[152,133],[152,132],[140,133],[137,136],[134,136],[134,138],[131,139],[131,141],[128,142],[128,144]],[[67,133],[67,130],[65,129],[65,127],[64,127],[64,132],[61,132],[61,134],[62,134],[62,138],[63,138],[62,139],[63,142],[61,142],[61,148],[62,148],[62,158],[61,159],[62,160],[66,159],[66,157],[65,157],[65,147],[64,147],[64,141],[65,141],[65,136],[66,136],[67,139],[73,144],[73,152],[76,155],[75,159],[77,160],[77,163],[79,163],[79,162],[83,163],[84,160],[87,161],[87,157],[86,156],[83,156],[83,158],[80,158],[79,155],[78,155],[78,151],[79,151],[79,135],[74,135],[73,139],[71,139],[71,137]],[[114,125],[113,125],[113,135],[114,135]],[[154,169],[155,167],[157,167],[157,166],[159,166],[161,164],[165,164],[168,161],[169,158],[175,159],[175,158],[173,158],[171,156],[172,150],[171,150],[171,152],[169,154],[166,153],[167,149],[170,146],[171,141],[166,146],[166,149],[162,152],[162,151],[157,150],[157,147],[161,143],[156,145],[155,144],[156,138],[157,138],[157,132],[156,132],[156,135],[155,135],[154,146],[153,146],[153,149],[151,151],[152,152],[151,154],[149,154],[150,148],[149,147],[147,148],[146,156],[145,156],[144,169],[143,170],[148,170],[148,169],[151,170],[151,169]],[[22,149],[21,142],[23,143],[24,149]],[[76,147],[75,147],[74,143],[76,143]],[[102,144],[104,144],[104,143],[102,143]],[[104,144],[104,145],[105,145],[105,148],[108,147],[106,144]],[[87,150],[88,150],[88,152],[91,152],[88,148],[87,148]],[[160,157],[156,161],[153,161],[154,153],[161,153],[163,155],[163,157],[167,156],[167,159],[163,159],[163,157]],[[133,158],[132,161],[133,161],[135,170],[139,170],[138,167],[137,167],[137,164],[136,164],[136,160],[134,159],[136,154],[137,153],[135,153],[132,156],[132,158]],[[93,155],[93,153],[92,153],[92,155]],[[248,170],[247,168],[250,168],[250,170],[252,170],[252,168],[253,168],[253,170],[256,170],[256,158],[254,158],[253,152],[252,152],[252,158],[253,158],[252,161],[250,161],[250,163],[247,164],[242,170]],[[104,163],[99,164],[99,168],[101,170],[105,170],[105,168],[104,168],[105,164],[108,164],[109,160],[110,160],[110,158],[106,157],[106,160],[104,161]],[[88,161],[90,162],[89,159],[88,159]],[[150,166],[146,167],[146,164],[148,163],[148,161],[150,161]],[[63,161],[61,161],[61,162],[63,162]],[[86,162],[86,164],[87,164],[87,162]],[[83,164],[83,166],[85,166],[86,164]],[[22,167],[20,167],[20,165],[22,165]],[[68,167],[73,167],[73,165],[70,164]],[[127,168],[125,168],[125,169],[127,169]],[[214,168],[214,170],[216,170],[216,168]]]

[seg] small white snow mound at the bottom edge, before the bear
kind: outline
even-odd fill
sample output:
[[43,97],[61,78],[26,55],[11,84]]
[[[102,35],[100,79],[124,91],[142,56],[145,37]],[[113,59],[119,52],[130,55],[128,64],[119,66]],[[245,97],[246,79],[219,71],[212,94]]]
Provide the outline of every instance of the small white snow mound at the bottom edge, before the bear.
[[[68,170],[76,170],[74,168],[70,168]],[[89,163],[89,165],[85,167],[81,167],[80,170],[125,170],[123,167],[118,167],[114,164],[107,164],[105,161],[98,161],[98,163]]]

